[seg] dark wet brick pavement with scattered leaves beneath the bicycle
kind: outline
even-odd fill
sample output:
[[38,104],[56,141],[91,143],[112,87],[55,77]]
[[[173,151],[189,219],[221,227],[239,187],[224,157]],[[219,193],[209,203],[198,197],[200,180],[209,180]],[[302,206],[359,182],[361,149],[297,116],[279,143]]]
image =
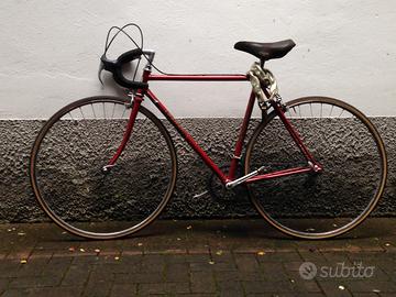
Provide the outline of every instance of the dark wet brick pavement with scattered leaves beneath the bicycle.
[[[396,296],[396,219],[326,241],[294,240],[262,220],[158,221],[114,241],[1,224],[0,238],[1,297]],[[311,279],[299,272],[306,262]]]

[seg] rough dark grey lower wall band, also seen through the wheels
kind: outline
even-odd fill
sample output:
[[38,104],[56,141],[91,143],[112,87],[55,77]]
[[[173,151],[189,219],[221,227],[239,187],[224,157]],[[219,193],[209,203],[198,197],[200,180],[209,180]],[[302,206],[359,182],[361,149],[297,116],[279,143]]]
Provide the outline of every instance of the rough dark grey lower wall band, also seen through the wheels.
[[[229,164],[229,153],[232,152],[237,139],[238,128],[241,124],[240,119],[183,119],[180,122],[196,136],[198,143],[217,164]],[[396,216],[394,170],[396,167],[396,147],[394,145],[396,119],[378,118],[374,119],[374,123],[380,129],[387,146],[393,148],[388,150],[391,177],[375,215]],[[251,128],[253,129],[255,124],[257,121],[254,121]],[[0,222],[47,219],[34,199],[28,175],[30,148],[42,125],[42,121],[0,121],[0,130],[8,132],[2,136],[0,143],[0,173],[2,177],[0,179]],[[312,128],[312,124],[308,125]],[[135,133],[139,134],[136,138],[139,142],[133,141],[128,145],[113,173],[106,177],[98,168],[109,160],[110,154],[116,150],[122,130],[110,125],[97,125],[94,131],[87,130],[82,124],[81,131],[77,133],[78,129],[76,130],[74,125],[68,128],[67,124],[61,124],[59,127],[61,129],[55,134],[50,134],[45,144],[42,145],[44,153],[40,153],[41,160],[37,162],[37,179],[41,191],[54,211],[62,213],[62,216],[82,219],[85,215],[91,216],[92,210],[96,209],[99,211],[97,218],[103,219],[111,213],[111,218],[122,220],[125,216],[135,213],[141,208],[153,210],[153,207],[160,204],[160,197],[156,194],[165,193],[164,189],[167,186],[165,183],[170,176],[169,163],[166,162],[169,160],[165,158],[167,152],[163,142],[160,142],[161,136],[155,133],[151,138],[150,135],[153,134],[148,132],[148,129],[135,130],[134,135]],[[337,158],[331,158],[332,154],[323,155],[330,157],[330,160],[326,160],[327,172],[334,170],[330,175],[323,174],[323,177],[330,178],[330,180],[319,180],[320,190],[316,189],[316,191],[309,191],[307,183],[300,180],[298,176],[290,179],[276,179],[275,184],[271,182],[261,184],[261,186],[264,185],[262,188],[264,193],[260,191],[260,194],[267,198],[265,206],[273,207],[271,213],[282,209],[284,215],[297,216],[304,212],[305,216],[312,216],[310,211],[314,211],[315,206],[318,206],[319,211],[316,210],[316,213],[327,216],[329,210],[348,213],[346,211],[353,209],[361,211],[362,207],[366,206],[369,199],[366,194],[374,190],[374,188],[367,189],[367,186],[373,185],[372,178],[377,178],[377,175],[373,176],[373,173],[377,173],[375,166],[378,164],[371,155],[373,147],[361,147],[361,142],[356,141],[355,147],[358,150],[351,151],[354,144],[350,142],[345,145],[340,143],[337,138],[338,134],[333,133],[334,131],[343,131],[345,124],[340,122],[337,128],[333,124],[331,127],[334,129],[329,130],[328,125],[322,127],[322,130],[319,129],[319,133],[317,130],[307,130],[306,125],[302,129],[310,141],[319,143],[318,152],[326,147],[331,152],[334,147],[334,151],[339,153]],[[73,133],[69,133],[70,129],[73,129]],[[178,178],[176,191],[164,212],[165,217],[230,218],[257,216],[243,189],[237,190],[237,195],[232,191],[224,195],[224,191],[218,188],[219,182],[216,178],[212,184],[216,196],[200,195],[208,189],[211,172],[169,124],[167,124],[167,129],[177,151]],[[155,132],[155,130],[151,131]],[[301,132],[301,130],[299,131]],[[360,133],[358,131],[350,133],[346,139],[359,139]],[[249,136],[251,134],[252,130],[250,130]],[[58,136],[55,138],[55,135]],[[329,135],[329,138],[323,138],[323,135]],[[112,143],[113,150],[108,150],[108,146],[102,143],[109,143],[108,140],[114,138],[118,141]],[[154,142],[153,138],[155,139]],[[253,163],[252,166],[266,165],[271,167],[271,164],[276,165],[284,162],[289,165],[296,162],[294,161],[295,157],[301,157],[287,132],[278,129],[277,125],[270,125],[266,134],[260,139],[260,143],[262,143],[261,148],[265,152],[262,154],[265,156],[264,164]],[[323,146],[323,143],[328,146]],[[363,143],[366,142],[363,141]],[[346,151],[340,150],[340,146],[343,147],[343,145]],[[157,146],[164,148],[160,150]],[[136,151],[140,153],[141,161],[134,157]],[[253,157],[260,151],[255,150]],[[43,158],[45,155],[51,157]],[[315,155],[318,157],[318,153]],[[74,162],[70,162],[72,160]],[[339,163],[340,167],[334,166],[334,163]],[[301,165],[302,163],[298,164]],[[134,183],[136,178],[139,182]],[[321,195],[311,196],[312,193],[317,195],[320,193]],[[329,200],[329,197],[334,199]],[[86,208],[90,211],[85,211]],[[112,209],[116,210],[109,211]]]

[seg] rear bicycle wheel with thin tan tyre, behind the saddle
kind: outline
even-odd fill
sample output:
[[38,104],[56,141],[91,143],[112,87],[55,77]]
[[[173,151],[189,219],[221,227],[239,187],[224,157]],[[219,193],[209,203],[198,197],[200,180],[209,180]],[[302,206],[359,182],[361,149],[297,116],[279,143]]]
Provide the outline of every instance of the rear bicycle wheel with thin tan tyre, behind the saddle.
[[[298,238],[331,238],[355,228],[385,187],[387,163],[378,132],[359,110],[331,98],[293,100],[285,116],[323,169],[249,184],[253,205],[273,227]],[[274,111],[246,148],[245,174],[261,166],[266,173],[307,166]]]

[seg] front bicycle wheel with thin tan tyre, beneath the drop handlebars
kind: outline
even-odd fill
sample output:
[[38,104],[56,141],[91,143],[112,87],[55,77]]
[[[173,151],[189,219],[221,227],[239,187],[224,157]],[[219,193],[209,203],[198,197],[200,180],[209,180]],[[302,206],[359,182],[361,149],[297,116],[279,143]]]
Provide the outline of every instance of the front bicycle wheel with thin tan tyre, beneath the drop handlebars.
[[109,96],[75,101],[43,125],[33,144],[30,180],[35,197],[45,213],[73,234],[108,240],[135,233],[153,222],[172,197],[175,147],[162,121],[142,106],[116,167],[108,174],[101,170],[121,143],[129,103]]

